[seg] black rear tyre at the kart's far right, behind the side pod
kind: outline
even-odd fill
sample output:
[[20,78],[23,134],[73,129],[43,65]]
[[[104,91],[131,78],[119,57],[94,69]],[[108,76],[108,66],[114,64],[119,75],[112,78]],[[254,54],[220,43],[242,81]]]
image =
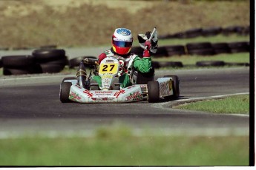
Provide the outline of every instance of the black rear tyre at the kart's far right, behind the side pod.
[[165,75],[164,78],[171,78],[171,86],[174,90],[174,95],[165,96],[165,100],[176,100],[180,97],[180,79],[177,75]]

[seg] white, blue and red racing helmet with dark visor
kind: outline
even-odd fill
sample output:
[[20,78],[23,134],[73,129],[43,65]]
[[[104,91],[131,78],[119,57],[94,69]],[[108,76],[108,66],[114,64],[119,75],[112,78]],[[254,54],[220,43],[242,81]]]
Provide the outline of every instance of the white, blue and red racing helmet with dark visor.
[[127,28],[116,28],[112,35],[112,47],[119,55],[126,55],[131,51],[133,37],[131,30]]

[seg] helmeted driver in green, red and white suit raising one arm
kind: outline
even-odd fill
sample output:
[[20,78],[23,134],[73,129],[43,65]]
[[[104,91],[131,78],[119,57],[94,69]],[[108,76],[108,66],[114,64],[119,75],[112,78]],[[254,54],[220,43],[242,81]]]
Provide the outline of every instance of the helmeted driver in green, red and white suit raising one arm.
[[[105,50],[98,57],[98,63],[106,58],[107,56],[114,56],[119,58],[121,67],[124,68],[119,71],[119,79],[114,80],[114,84],[121,84],[121,88],[131,86],[130,76],[128,70],[134,67],[135,70],[142,73],[150,72],[151,69],[151,57],[149,49],[151,48],[151,42],[145,41],[145,50],[143,56],[140,58],[138,55],[131,53],[131,47],[133,43],[133,36],[131,30],[127,28],[116,28],[112,35],[112,47],[109,50]],[[102,86],[102,80],[99,75],[94,75],[91,84],[99,84]],[[92,86],[95,88],[95,86]],[[112,86],[115,89],[115,86]]]

